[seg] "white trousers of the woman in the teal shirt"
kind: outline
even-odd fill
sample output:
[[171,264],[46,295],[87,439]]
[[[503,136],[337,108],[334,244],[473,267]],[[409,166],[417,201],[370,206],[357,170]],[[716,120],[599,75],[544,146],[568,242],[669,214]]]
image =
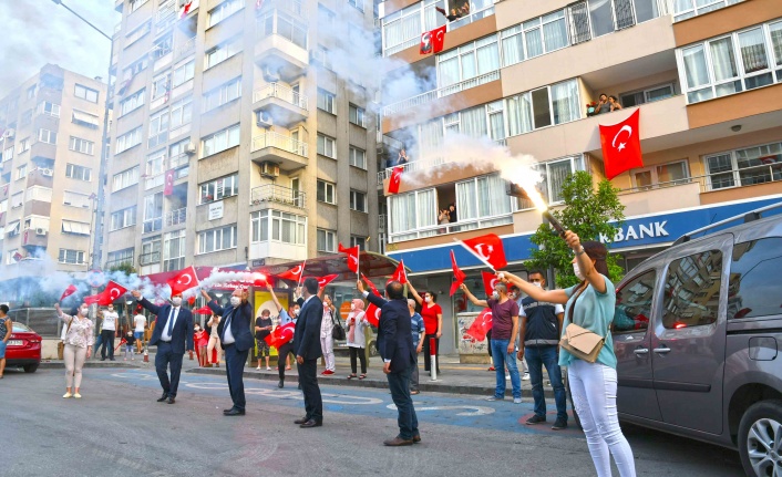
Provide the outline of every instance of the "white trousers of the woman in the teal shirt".
[[598,477],[610,477],[611,460],[621,477],[636,476],[632,449],[619,427],[616,408],[616,370],[600,363],[574,360],[567,369],[576,407]]

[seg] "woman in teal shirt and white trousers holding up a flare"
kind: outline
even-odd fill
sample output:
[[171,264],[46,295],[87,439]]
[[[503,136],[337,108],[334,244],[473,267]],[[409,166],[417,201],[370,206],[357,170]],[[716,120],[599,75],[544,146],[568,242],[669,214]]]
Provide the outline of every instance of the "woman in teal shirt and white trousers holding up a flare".
[[521,278],[500,272],[535,300],[549,303],[562,303],[565,307],[563,334],[573,322],[593,331],[606,341],[595,363],[589,363],[572,355],[566,350],[559,350],[559,365],[567,366],[573,404],[582,421],[591,460],[598,477],[610,477],[610,455],[621,477],[635,477],[636,466],[632,449],[619,427],[616,407],[616,354],[611,341],[610,324],[616,305],[616,290],[608,279],[606,246],[598,241],[580,242],[572,231],[565,232],[565,240],[576,256],[573,258],[573,271],[582,280],[580,283],[558,290],[543,290]]

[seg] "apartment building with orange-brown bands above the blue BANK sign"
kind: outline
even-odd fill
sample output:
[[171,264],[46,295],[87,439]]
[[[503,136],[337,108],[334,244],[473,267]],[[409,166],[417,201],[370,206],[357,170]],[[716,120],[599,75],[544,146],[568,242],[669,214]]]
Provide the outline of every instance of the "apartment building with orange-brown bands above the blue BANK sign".
[[[510,269],[525,273],[542,220],[505,194],[494,164],[450,167],[453,157],[436,155],[454,132],[534,156],[539,189],[556,207],[567,174],[605,178],[598,126],[639,110],[644,168],[611,180],[627,216],[611,250],[627,269],[681,234],[782,199],[781,2],[482,0],[451,22],[435,10],[464,3],[392,0],[381,9],[383,54],[436,75],[435,87],[382,115],[387,156],[401,142],[405,175],[418,179],[403,175],[399,194],[382,193],[388,255],[429,289],[447,293],[453,249],[483,293],[477,260],[453,238],[497,234]],[[443,51],[421,55],[420,34],[443,24]],[[624,108],[588,115],[601,93]],[[379,174],[383,191],[389,176]],[[451,203],[457,221],[439,225],[436,211]],[[452,352],[463,345],[460,313],[474,310],[460,295],[443,310],[441,349]]]

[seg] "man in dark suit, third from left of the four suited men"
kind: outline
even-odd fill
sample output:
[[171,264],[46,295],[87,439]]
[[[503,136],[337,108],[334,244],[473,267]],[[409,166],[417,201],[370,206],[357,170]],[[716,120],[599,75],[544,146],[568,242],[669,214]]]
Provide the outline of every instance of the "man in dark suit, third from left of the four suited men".
[[320,322],[323,320],[323,302],[318,298],[318,280],[305,280],[303,300],[299,299],[301,311],[294,332],[294,352],[299,367],[299,383],[305,395],[307,415],[294,423],[301,427],[323,425],[323,401],[318,386],[318,357],[320,349]]

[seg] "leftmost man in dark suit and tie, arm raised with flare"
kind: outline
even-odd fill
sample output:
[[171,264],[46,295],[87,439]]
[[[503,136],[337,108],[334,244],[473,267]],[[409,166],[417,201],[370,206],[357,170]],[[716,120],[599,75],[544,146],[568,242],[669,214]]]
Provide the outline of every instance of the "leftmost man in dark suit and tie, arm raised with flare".
[[[163,395],[158,403],[166,401],[174,404],[176,390],[179,387],[182,357],[185,351],[193,351],[193,313],[182,308],[182,294],[172,295],[171,304],[157,307],[143,298],[138,290],[132,291],[133,298],[142,307],[150,310],[155,318],[155,330],[152,332],[150,345],[157,345],[155,371],[163,386]],[[171,380],[168,379],[171,367]]]

